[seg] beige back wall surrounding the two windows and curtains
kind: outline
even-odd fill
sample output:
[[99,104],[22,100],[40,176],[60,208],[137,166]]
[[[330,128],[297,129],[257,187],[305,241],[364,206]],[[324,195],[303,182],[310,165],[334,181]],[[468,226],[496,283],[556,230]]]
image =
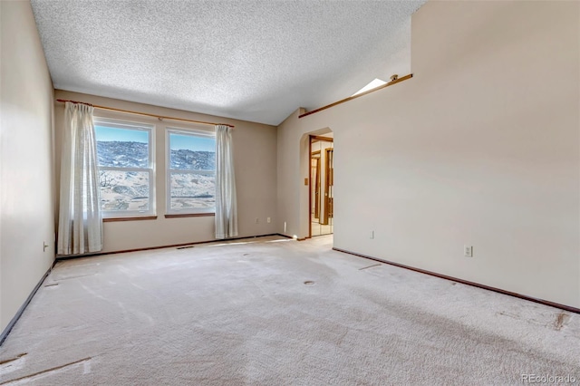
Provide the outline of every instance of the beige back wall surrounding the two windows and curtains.
[[[236,126],[233,133],[234,160],[236,162],[237,207],[239,236],[259,236],[276,232],[275,218],[275,159],[276,130],[273,126],[247,121],[230,120],[177,111],[130,101],[119,101],[77,92],[55,92],[56,99],[85,101],[101,106],[130,111],[141,111],[197,121],[231,123]],[[63,130],[64,104],[56,102],[55,128],[57,143],[56,169],[60,179],[61,140]],[[119,221],[104,223],[104,252],[169,246],[176,244],[208,241],[215,238],[214,217],[165,218],[165,128],[195,128],[213,130],[212,126],[191,125],[179,121],[159,121],[140,115],[96,109],[95,116],[116,118],[126,121],[142,121],[155,125],[155,172],[157,219],[140,221]],[[58,211],[57,211],[58,213]],[[258,223],[256,224],[256,217]],[[266,218],[271,217],[268,224]]]

